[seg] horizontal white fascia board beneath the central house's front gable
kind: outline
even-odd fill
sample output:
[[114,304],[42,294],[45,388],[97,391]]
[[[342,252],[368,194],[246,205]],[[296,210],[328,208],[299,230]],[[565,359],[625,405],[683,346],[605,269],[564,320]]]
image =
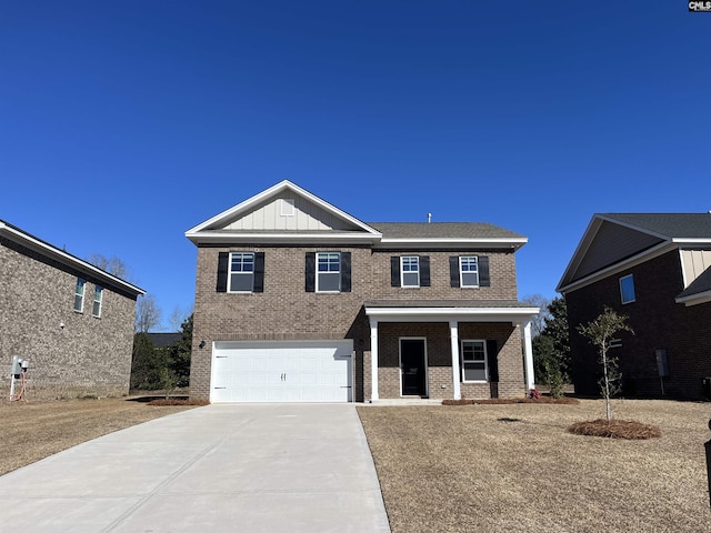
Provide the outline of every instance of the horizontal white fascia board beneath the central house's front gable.
[[194,244],[236,244],[236,243],[271,243],[271,244],[318,244],[318,243],[348,243],[348,244],[372,244],[380,239],[380,234],[367,233],[331,233],[324,231],[323,234],[314,233],[240,233],[223,231],[203,231],[197,234],[188,234]]

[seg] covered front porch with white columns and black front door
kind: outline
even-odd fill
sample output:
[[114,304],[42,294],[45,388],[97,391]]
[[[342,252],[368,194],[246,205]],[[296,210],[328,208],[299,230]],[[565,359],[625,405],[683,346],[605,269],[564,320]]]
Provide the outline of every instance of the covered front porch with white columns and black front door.
[[520,398],[534,386],[538,312],[519,302],[367,302],[364,400]]

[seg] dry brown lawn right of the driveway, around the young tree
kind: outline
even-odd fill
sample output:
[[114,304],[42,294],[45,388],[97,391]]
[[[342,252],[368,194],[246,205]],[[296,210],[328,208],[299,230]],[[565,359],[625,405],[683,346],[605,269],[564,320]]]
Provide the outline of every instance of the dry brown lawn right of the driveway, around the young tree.
[[358,412],[393,533],[711,531],[709,403],[614,401],[661,429],[642,441],[568,432],[601,400]]

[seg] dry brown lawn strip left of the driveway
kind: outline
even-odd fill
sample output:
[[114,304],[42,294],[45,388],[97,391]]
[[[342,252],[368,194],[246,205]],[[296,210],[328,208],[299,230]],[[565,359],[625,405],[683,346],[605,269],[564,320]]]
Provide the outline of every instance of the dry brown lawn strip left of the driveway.
[[0,475],[91,439],[186,409],[191,408],[152,406],[124,399],[0,403]]

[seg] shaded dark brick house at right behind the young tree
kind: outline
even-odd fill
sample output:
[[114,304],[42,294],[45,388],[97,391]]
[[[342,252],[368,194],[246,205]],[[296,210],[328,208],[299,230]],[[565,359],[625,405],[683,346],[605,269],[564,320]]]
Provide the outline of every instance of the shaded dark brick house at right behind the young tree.
[[592,218],[558,289],[565,298],[575,392],[597,394],[601,365],[578,333],[604,305],[628,316],[619,334],[623,394],[699,399],[711,375],[711,214]]

